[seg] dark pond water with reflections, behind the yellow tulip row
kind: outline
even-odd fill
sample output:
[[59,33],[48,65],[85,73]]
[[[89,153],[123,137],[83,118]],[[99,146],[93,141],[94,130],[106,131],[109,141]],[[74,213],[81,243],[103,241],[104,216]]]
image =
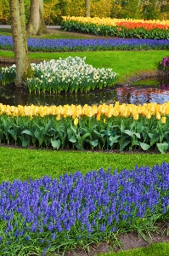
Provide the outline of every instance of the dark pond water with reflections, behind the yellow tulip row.
[[14,90],[14,86],[0,86],[0,102],[8,105],[65,105],[65,104],[112,104],[114,102],[143,104],[157,102],[159,104],[169,101],[169,77],[143,79],[127,86],[115,85],[104,91],[94,91],[87,94],[73,95],[44,95],[29,94]]

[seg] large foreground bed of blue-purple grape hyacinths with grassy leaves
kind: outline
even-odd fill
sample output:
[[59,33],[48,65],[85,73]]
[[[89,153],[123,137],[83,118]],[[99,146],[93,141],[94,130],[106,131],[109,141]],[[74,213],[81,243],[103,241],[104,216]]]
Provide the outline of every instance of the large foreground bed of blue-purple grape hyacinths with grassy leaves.
[[[0,185],[0,254],[28,255],[148,229],[169,209],[169,164]],[[143,228],[144,227],[144,228]],[[15,252],[15,254],[13,254]]]

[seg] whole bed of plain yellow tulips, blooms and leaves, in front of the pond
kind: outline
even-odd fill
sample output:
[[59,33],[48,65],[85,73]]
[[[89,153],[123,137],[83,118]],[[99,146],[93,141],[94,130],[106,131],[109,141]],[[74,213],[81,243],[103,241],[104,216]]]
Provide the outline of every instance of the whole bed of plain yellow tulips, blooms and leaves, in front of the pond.
[[75,149],[168,149],[169,102],[83,107],[0,104],[0,143]]

